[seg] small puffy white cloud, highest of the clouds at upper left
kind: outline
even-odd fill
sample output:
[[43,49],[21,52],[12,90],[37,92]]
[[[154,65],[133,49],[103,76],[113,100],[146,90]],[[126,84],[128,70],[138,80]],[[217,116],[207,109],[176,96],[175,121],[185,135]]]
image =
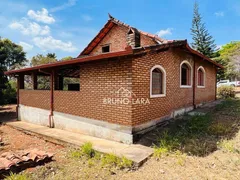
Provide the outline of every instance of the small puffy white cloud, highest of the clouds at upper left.
[[51,14],[48,14],[48,10],[45,8],[42,8],[42,11],[36,11],[36,12],[34,10],[29,10],[27,15],[31,19],[34,19],[38,22],[43,22],[46,24],[52,24],[55,22],[55,19],[52,17]]

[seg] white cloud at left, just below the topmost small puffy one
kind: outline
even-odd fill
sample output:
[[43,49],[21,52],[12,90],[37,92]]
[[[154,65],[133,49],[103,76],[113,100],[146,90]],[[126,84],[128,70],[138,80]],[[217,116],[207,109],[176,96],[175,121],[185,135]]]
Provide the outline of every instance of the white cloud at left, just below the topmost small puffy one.
[[35,22],[30,22],[26,19],[23,19],[19,22],[13,22],[9,25],[11,29],[19,30],[24,35],[49,35],[50,28],[48,26],[40,26]]

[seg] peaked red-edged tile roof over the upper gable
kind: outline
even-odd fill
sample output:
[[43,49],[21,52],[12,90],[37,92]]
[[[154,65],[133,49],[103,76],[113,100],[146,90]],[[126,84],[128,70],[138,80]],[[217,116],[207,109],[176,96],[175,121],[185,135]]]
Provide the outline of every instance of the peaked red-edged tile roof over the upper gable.
[[[125,24],[119,21],[118,19],[114,18],[109,14],[109,20],[107,21],[107,23],[103,26],[103,28],[99,31],[99,33],[95,36],[95,38],[93,38],[93,40],[85,47],[85,49],[80,53],[78,57],[88,55],[98,45],[98,43],[100,43],[100,41],[107,35],[107,33],[112,29],[114,25],[124,26],[126,28],[134,28],[128,24]],[[158,44],[167,42],[167,40],[160,38],[157,35],[150,34],[150,33],[141,31],[139,29],[136,29],[136,30],[141,34],[153,39]]]

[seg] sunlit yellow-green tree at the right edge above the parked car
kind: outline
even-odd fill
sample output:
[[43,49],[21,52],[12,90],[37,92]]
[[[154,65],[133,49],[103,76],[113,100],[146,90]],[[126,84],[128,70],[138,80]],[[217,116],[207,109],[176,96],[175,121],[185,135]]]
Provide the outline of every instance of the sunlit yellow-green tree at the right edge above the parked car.
[[240,79],[240,42],[231,42],[218,51],[214,60],[224,66],[224,71],[218,73],[220,79]]

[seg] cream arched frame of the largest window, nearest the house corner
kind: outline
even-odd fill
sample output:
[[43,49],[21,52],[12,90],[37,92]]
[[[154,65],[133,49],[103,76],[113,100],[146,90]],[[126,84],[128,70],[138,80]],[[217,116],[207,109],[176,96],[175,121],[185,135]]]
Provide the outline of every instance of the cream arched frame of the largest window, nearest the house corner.
[[[163,94],[152,94],[152,72],[154,69],[159,69],[163,74],[163,77],[162,77],[163,78],[163,84],[162,84]],[[151,70],[150,70],[150,98],[166,97],[166,76],[167,76],[166,71],[162,66],[155,65],[151,68]]]

